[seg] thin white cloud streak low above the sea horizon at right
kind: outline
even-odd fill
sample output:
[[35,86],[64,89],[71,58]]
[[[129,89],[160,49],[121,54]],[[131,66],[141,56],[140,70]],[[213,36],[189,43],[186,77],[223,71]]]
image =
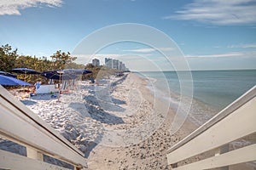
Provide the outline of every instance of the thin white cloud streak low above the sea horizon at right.
[[230,52],[226,54],[209,54],[209,55],[185,55],[187,59],[209,59],[209,58],[224,58],[224,57],[240,57],[240,58],[256,58],[256,51],[246,52]]

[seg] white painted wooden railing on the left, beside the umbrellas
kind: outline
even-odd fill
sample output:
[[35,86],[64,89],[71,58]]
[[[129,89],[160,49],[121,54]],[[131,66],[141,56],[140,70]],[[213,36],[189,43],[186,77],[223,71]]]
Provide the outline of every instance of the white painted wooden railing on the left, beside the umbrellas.
[[43,161],[43,154],[86,169],[84,154],[0,86],[0,137],[26,146],[26,155],[0,150],[0,168],[67,169]]

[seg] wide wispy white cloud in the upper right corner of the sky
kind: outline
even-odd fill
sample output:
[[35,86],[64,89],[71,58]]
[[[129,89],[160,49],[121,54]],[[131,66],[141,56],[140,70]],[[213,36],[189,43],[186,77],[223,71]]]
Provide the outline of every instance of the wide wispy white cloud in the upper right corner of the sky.
[[163,19],[196,20],[212,25],[255,25],[256,0],[195,0]]

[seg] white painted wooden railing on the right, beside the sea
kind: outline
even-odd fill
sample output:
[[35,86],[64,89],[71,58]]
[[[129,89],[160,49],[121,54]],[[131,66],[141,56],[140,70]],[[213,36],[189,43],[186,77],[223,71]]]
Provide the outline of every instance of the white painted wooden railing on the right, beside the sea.
[[[256,144],[229,151],[229,144],[256,132],[256,86],[167,150],[168,163],[175,170],[221,168],[256,161]],[[215,156],[177,167],[177,162],[217,150]]]

